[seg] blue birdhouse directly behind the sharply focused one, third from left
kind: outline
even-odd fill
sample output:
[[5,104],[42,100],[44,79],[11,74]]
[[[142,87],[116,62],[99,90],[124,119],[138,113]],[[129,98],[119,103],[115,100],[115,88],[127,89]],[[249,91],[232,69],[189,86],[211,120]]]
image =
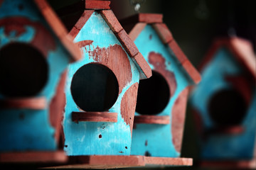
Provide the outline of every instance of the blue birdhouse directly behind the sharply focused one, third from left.
[[139,13],[121,23],[152,69],[139,81],[132,155],[146,164],[191,165],[180,156],[188,86],[201,77],[174,40],[161,14]]

